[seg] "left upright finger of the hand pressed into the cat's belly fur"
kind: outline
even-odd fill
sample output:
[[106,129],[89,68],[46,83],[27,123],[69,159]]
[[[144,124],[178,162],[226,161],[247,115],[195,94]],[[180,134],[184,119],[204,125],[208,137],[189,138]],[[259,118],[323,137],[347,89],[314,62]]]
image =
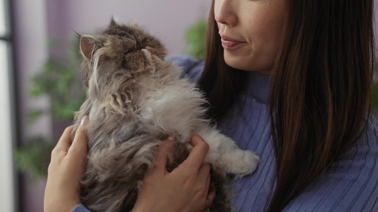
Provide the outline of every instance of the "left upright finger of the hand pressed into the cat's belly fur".
[[169,135],[166,140],[161,143],[161,146],[158,149],[156,155],[155,165],[153,170],[158,170],[159,173],[165,174],[167,169],[167,160],[170,154],[170,151],[175,147],[176,138],[173,135]]

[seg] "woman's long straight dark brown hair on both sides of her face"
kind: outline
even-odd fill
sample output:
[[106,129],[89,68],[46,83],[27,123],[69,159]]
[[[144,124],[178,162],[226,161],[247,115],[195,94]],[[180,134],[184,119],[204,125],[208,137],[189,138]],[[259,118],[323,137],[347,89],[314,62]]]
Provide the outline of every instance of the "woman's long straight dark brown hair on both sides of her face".
[[[373,0],[286,0],[282,45],[270,92],[277,185],[268,211],[282,210],[364,132],[375,58]],[[214,19],[199,80],[219,119],[243,88],[226,65]]]

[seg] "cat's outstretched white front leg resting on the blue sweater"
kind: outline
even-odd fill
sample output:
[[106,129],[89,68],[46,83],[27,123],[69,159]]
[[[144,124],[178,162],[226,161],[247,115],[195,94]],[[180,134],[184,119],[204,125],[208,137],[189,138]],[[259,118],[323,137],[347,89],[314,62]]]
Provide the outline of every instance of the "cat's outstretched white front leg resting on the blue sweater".
[[253,151],[240,149],[231,138],[210,126],[199,128],[194,133],[209,144],[209,152],[204,162],[213,164],[225,173],[234,174],[235,179],[252,174],[260,163],[259,157]]

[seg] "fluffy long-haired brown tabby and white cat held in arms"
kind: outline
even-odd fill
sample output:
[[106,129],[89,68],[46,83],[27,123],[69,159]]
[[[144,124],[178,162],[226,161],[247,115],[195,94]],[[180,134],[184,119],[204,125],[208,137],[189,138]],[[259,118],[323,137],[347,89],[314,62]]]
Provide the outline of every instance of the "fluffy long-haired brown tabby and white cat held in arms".
[[75,114],[73,137],[81,118],[90,117],[82,203],[93,212],[132,209],[162,140],[168,134],[178,138],[167,164],[172,171],[189,155],[189,139],[195,133],[209,144],[204,162],[212,164],[212,189],[217,194],[206,210],[232,211],[226,173],[236,178],[251,174],[259,157],[242,151],[211,126],[204,94],[163,60],[160,41],[135,25],[114,20],[101,34],[78,36],[88,98]]

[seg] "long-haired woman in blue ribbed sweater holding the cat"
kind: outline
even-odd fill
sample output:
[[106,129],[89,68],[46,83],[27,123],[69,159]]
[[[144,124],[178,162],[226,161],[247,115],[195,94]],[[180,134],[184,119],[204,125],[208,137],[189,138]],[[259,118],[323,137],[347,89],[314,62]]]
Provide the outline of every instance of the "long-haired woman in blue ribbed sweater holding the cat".
[[[253,175],[234,183],[236,211],[377,211],[373,0],[213,0],[212,7],[205,61],[170,59],[198,81],[225,134],[261,157]],[[52,155],[45,211],[79,204],[86,138],[77,136],[67,153],[67,132]],[[133,211],[211,204],[209,165],[200,165],[206,143],[194,135],[193,157],[171,173],[164,164],[174,142],[165,143]]]

